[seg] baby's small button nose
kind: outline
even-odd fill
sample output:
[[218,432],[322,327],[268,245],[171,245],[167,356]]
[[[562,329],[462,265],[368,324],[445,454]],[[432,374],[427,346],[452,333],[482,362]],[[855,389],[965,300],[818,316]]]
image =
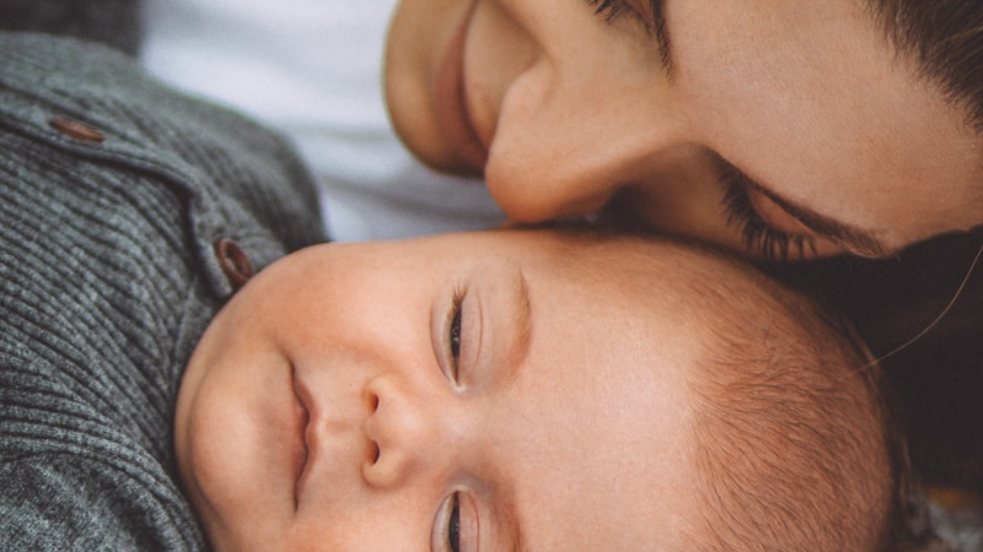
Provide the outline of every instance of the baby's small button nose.
[[459,439],[439,398],[389,376],[371,380],[365,395],[371,410],[363,429],[376,446],[375,458],[363,466],[370,485],[393,486],[440,471],[455,456]]

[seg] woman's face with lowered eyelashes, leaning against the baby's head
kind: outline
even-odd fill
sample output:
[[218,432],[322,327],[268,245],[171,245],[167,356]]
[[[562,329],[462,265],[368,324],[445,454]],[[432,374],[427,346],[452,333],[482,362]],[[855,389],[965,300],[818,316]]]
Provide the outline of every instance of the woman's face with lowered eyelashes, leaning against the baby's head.
[[789,257],[983,222],[979,138],[861,0],[402,0],[385,76],[408,146],[518,221]]

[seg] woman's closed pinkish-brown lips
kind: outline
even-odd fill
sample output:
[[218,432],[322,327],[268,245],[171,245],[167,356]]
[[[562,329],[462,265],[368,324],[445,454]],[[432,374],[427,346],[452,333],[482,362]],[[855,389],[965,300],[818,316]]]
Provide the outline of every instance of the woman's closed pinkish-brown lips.
[[481,172],[488,150],[471,124],[464,83],[464,43],[475,4],[468,9],[454,33],[436,76],[434,113],[437,128],[461,162]]

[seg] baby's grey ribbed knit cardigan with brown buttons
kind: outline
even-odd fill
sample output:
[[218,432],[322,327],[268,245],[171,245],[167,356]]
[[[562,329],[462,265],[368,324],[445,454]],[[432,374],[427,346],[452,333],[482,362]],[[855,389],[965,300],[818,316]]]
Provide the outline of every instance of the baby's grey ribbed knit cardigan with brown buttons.
[[249,121],[109,49],[0,34],[0,550],[206,549],[171,435],[233,291],[213,244],[259,270],[324,239],[317,205]]

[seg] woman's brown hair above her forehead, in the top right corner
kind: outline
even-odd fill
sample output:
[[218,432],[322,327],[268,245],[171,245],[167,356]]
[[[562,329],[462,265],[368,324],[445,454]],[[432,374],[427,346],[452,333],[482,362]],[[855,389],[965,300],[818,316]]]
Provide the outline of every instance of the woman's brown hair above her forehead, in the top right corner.
[[983,1],[867,0],[889,40],[983,135]]

